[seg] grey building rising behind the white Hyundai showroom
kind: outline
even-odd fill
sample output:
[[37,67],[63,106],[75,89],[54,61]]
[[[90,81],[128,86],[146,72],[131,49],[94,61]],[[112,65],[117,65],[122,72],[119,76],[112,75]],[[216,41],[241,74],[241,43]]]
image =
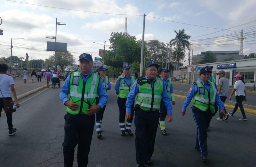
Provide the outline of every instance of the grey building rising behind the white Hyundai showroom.
[[[202,60],[202,57],[206,53],[207,52],[201,52],[201,54],[193,55],[191,59],[192,64],[195,65],[198,61]],[[234,60],[244,59],[244,55],[240,55],[239,50],[238,51],[211,51],[210,53],[215,54],[218,62],[221,62],[228,58],[232,58]]]

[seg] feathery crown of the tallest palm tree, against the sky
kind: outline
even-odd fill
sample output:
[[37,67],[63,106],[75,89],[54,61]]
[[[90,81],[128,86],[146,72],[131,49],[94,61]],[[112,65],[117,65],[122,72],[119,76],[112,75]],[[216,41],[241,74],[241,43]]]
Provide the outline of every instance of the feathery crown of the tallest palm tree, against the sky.
[[174,39],[170,40],[170,45],[172,46],[177,46],[177,44],[181,44],[182,47],[185,49],[189,48],[189,41],[188,39],[191,37],[190,35],[185,34],[185,30],[179,30],[179,32],[177,32],[176,30],[174,31],[176,33],[176,36]]

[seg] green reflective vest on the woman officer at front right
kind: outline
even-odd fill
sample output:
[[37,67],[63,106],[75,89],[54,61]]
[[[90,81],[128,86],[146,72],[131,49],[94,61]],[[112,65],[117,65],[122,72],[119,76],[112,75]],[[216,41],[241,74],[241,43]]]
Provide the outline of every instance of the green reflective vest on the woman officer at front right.
[[210,90],[207,90],[203,86],[201,81],[197,81],[197,93],[194,96],[193,105],[199,108],[201,111],[207,111],[210,108],[211,113],[215,112],[214,105],[215,105],[215,96],[216,96],[216,87],[213,82],[210,83]]

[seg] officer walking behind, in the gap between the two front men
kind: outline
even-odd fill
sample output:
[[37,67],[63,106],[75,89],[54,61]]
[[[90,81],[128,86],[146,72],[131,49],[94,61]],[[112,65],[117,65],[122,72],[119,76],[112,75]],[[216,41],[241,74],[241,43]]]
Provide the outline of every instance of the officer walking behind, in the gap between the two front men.
[[[131,131],[131,123],[134,115],[133,107],[131,108],[131,117],[129,119],[126,119],[125,124],[125,103],[127,100],[127,96],[131,90],[131,86],[134,83],[134,77],[130,75],[130,69],[131,67],[128,64],[125,64],[123,66],[124,73],[117,78],[115,85],[117,104],[119,108],[119,128],[122,136],[125,136],[125,132],[127,132],[130,136],[133,136],[133,133]],[[134,106],[134,101],[132,106]]]

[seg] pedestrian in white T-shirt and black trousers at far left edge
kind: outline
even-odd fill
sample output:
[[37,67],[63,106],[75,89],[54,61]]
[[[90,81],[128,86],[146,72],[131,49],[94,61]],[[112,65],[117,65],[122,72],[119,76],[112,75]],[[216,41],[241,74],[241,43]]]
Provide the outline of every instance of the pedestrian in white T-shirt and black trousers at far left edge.
[[[16,91],[14,88],[14,81],[11,76],[6,75],[6,71],[8,69],[7,64],[1,63],[0,64],[0,118],[1,118],[1,113],[2,113],[2,108],[3,106],[3,98],[6,100],[11,100],[11,95],[10,95],[10,88],[12,91],[12,95],[14,97],[14,104],[16,104],[17,107],[19,107],[18,99],[16,96]],[[17,129],[13,128],[12,124],[12,113],[5,113],[6,118],[7,118],[7,124],[8,124],[8,129],[9,129],[9,136],[12,136]]]

